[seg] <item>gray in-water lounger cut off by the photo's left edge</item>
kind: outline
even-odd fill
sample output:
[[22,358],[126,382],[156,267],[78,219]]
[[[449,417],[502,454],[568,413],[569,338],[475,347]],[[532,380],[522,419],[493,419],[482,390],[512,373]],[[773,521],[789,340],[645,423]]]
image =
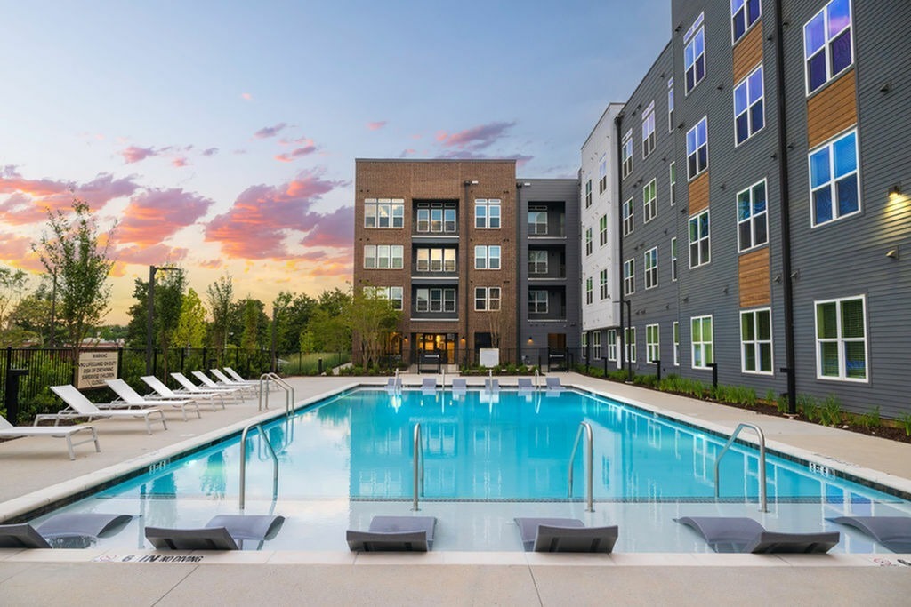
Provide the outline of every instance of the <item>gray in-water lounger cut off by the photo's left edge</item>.
[[27,522],[0,525],[0,548],[87,548],[98,538],[120,532],[129,514],[56,514],[33,527]]

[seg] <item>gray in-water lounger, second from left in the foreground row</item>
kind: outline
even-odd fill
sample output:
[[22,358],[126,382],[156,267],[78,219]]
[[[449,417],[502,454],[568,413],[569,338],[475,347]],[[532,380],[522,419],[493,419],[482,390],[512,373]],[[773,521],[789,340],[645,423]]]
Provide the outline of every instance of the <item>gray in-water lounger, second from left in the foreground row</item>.
[[244,540],[271,540],[283,516],[220,514],[199,529],[146,527],[146,539],[158,550],[241,550]]

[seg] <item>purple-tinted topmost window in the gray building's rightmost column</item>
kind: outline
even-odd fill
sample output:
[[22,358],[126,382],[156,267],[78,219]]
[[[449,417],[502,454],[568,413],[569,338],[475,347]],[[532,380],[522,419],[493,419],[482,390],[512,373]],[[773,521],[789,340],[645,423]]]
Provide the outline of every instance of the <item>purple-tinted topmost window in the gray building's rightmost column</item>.
[[854,62],[851,2],[832,0],[804,25],[806,94],[810,95]]

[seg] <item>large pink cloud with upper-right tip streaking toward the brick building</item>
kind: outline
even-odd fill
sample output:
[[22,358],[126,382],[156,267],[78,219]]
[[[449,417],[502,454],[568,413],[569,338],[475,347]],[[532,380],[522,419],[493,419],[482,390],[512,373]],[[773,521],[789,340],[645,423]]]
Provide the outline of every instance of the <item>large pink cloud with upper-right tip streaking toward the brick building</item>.
[[319,171],[303,171],[279,187],[252,186],[233,207],[209,222],[206,240],[219,242],[231,258],[294,258],[283,238],[291,231],[309,232],[322,218],[311,207],[343,182],[322,179]]

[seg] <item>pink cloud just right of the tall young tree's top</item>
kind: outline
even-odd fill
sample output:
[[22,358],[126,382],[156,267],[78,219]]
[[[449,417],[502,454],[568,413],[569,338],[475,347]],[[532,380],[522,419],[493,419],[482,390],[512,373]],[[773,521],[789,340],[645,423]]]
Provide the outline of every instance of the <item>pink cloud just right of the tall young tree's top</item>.
[[213,204],[179,188],[149,190],[132,197],[117,230],[118,241],[151,247],[204,216]]

